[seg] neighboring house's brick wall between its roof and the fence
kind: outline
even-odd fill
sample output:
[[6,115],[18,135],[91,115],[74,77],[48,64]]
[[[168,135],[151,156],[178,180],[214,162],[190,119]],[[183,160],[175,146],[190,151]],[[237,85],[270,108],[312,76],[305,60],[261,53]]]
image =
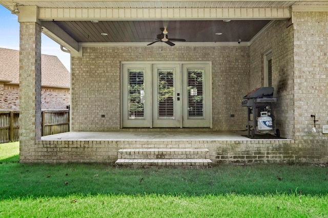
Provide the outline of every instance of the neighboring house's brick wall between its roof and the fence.
[[[18,85],[5,84],[2,93],[0,96],[0,109],[19,110]],[[69,89],[42,88],[41,95],[42,109],[66,109],[70,104]]]

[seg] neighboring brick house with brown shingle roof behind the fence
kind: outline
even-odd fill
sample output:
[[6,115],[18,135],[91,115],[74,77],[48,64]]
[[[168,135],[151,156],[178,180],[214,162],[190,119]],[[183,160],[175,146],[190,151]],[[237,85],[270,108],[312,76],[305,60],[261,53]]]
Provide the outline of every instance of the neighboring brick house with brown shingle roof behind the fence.
[[[70,104],[70,72],[56,56],[42,55],[42,109]],[[0,109],[19,110],[19,51],[0,48]]]

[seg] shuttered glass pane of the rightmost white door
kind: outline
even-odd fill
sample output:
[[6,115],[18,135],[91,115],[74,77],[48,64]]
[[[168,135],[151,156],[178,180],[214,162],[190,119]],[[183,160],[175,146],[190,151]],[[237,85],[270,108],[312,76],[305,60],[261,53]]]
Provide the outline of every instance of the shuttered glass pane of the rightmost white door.
[[203,116],[203,69],[188,69],[188,116]]

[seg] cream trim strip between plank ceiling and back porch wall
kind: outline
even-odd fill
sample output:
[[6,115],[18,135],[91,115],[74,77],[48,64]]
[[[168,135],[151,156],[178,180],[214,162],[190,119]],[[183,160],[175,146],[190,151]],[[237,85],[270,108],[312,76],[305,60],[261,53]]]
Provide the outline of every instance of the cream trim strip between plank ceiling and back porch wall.
[[[149,42],[80,42],[80,47],[146,47]],[[249,46],[249,42],[174,42],[177,47],[214,47],[214,46]],[[170,45],[161,42],[147,47],[161,47]]]

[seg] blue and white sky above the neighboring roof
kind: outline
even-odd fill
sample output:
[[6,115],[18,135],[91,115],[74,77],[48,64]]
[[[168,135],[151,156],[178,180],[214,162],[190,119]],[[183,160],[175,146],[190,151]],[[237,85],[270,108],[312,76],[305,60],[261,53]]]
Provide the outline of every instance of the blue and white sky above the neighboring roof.
[[[19,50],[19,22],[17,15],[11,14],[7,8],[0,5],[0,47]],[[45,34],[41,38],[41,53],[57,56],[61,63],[71,71],[70,54],[60,50],[60,45]]]

